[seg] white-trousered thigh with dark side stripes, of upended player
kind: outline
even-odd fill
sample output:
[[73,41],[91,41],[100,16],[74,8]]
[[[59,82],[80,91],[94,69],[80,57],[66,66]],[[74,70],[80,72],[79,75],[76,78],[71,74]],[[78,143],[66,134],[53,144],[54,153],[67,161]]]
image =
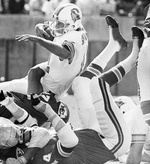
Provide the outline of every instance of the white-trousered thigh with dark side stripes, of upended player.
[[91,80],[91,93],[103,142],[118,158],[129,149],[131,133],[113,100],[109,84],[94,77]]

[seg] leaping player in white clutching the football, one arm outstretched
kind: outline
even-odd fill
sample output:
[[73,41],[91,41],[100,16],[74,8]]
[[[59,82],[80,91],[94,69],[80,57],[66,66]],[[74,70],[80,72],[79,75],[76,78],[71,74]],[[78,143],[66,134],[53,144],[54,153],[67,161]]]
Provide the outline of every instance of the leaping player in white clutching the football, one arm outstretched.
[[63,4],[56,8],[52,18],[53,22],[36,26],[37,36],[16,36],[18,41],[31,41],[46,48],[50,52],[48,61],[31,68],[26,78],[1,83],[1,90],[23,94],[51,91],[61,95],[82,72],[88,37],[82,25],[81,10],[75,4]]

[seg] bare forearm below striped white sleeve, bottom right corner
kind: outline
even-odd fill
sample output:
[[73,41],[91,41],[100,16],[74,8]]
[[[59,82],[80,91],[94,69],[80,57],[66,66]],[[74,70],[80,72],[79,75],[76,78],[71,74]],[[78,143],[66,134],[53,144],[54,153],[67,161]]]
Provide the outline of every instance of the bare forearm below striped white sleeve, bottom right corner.
[[126,164],[140,164],[144,143],[132,143]]

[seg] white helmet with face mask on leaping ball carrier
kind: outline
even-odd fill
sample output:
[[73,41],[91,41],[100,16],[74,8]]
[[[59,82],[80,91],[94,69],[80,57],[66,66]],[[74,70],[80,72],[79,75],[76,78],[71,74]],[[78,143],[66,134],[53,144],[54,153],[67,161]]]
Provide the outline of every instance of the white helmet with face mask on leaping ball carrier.
[[54,21],[50,24],[51,33],[55,36],[77,30],[82,27],[82,12],[75,4],[65,3],[58,6],[52,14]]

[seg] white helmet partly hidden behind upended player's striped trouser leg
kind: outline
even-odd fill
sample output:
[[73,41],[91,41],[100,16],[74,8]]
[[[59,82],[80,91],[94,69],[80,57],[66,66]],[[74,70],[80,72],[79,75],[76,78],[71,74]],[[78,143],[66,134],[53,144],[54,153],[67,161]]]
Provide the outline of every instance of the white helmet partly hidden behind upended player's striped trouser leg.
[[123,114],[136,107],[136,103],[128,96],[119,96],[114,101]]

